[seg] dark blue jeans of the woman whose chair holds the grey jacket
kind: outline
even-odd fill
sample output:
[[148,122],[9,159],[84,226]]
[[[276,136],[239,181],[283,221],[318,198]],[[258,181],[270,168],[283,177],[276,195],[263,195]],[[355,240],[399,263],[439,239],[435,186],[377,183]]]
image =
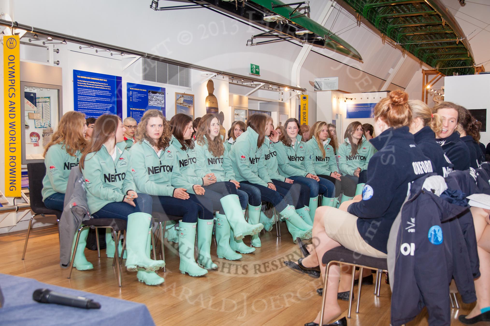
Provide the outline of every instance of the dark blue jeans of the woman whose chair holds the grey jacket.
[[92,214],[95,218],[120,218],[127,220],[127,216],[133,213],[152,213],[152,202],[151,196],[147,194],[138,193],[138,198],[134,199],[136,207],[129,205],[123,201],[113,201],[108,203],[97,212]]

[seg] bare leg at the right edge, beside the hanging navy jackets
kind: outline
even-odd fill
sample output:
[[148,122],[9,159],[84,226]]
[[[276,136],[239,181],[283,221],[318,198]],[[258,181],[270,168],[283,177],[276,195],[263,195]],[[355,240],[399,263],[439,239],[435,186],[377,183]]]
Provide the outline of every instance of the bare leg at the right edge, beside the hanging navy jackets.
[[471,214],[478,241],[481,276],[475,280],[476,305],[466,318],[475,317],[481,313],[480,309],[490,306],[490,225],[485,220],[489,213],[483,208],[472,207]]

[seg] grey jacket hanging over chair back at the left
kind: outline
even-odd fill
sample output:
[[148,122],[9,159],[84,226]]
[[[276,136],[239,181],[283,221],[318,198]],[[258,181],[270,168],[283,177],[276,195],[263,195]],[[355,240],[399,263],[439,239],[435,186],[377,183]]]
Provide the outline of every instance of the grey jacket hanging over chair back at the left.
[[85,180],[80,169],[72,169],[65,193],[65,208],[60,218],[60,266],[68,267],[72,256],[73,236],[84,220],[90,219]]

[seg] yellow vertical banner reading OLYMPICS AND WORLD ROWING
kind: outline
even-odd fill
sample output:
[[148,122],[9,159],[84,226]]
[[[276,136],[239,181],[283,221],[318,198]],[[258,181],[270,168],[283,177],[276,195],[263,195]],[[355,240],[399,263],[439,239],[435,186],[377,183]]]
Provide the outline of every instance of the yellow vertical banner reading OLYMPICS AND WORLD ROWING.
[[21,196],[21,71],[19,36],[3,36],[5,196]]

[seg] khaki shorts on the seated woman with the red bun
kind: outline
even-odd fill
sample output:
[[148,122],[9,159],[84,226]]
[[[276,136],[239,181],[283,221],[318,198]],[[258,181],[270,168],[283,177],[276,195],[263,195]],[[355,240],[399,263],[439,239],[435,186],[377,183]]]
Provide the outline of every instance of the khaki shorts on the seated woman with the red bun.
[[341,211],[340,209],[328,210],[328,215],[323,217],[325,232],[330,239],[342,244],[345,248],[355,251],[359,254],[375,257],[386,258],[384,252],[371,247],[357,230],[357,216]]

